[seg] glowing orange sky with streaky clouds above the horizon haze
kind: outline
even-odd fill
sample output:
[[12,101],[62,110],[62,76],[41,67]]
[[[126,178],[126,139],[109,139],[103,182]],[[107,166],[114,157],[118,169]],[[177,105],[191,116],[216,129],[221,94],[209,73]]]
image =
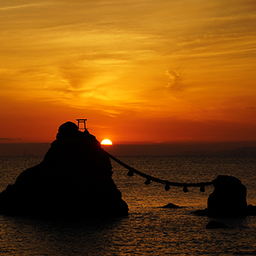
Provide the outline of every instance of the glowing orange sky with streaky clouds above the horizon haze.
[[113,143],[256,141],[254,0],[0,4],[0,143],[87,118]]

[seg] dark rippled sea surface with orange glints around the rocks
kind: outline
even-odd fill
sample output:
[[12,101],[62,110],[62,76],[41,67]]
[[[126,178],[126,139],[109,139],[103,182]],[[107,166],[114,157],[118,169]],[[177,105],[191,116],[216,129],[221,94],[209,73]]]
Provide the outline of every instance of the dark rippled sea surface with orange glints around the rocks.
[[[0,157],[0,190],[43,157]],[[141,172],[169,181],[212,181],[233,175],[256,205],[256,157],[117,157]],[[208,217],[190,215],[206,208],[213,187],[164,190],[129,177],[112,162],[113,179],[130,214],[111,221],[44,221],[0,215],[0,255],[256,255],[256,216],[219,219],[230,229],[206,230]],[[175,203],[181,209],[163,209]]]

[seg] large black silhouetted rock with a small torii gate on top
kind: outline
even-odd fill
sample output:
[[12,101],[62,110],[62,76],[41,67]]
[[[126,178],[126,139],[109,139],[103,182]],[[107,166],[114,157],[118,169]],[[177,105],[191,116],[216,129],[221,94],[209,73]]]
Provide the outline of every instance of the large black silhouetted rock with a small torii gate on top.
[[128,214],[100,143],[75,123],[59,126],[44,160],[0,194],[0,214],[105,218]]

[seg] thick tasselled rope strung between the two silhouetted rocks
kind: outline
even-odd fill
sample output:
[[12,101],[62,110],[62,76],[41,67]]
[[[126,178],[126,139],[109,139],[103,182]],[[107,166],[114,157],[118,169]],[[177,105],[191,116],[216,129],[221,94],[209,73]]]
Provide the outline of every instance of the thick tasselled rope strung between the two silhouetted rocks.
[[[103,150],[104,151],[104,150]],[[212,185],[213,181],[209,181],[209,182],[198,182],[198,183],[186,183],[186,182],[173,182],[173,181],[166,181],[163,180],[161,178],[155,178],[151,175],[147,175],[143,172],[138,171],[137,169],[134,169],[131,166],[128,166],[126,163],[123,163],[122,161],[120,161],[119,159],[117,159],[116,157],[113,157],[111,154],[109,154],[107,151],[105,151],[105,153],[108,155],[108,157],[110,157],[112,160],[114,160],[115,162],[119,163],[121,166],[123,166],[124,168],[128,169],[129,172],[127,173],[127,175],[129,176],[133,176],[133,173],[136,173],[144,178],[146,178],[145,184],[150,184],[151,181],[160,183],[160,184],[165,184],[165,189],[169,190],[169,187],[184,187],[183,190],[184,192],[187,192],[187,187],[200,187],[200,191],[204,192],[205,191],[205,186],[209,186]]]

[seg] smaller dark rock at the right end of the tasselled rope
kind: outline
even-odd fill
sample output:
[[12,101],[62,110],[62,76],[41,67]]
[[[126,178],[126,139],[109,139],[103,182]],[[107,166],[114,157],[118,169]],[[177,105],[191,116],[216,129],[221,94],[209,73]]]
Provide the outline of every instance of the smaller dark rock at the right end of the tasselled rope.
[[208,211],[214,217],[239,217],[247,214],[246,187],[238,178],[219,175],[208,198]]

